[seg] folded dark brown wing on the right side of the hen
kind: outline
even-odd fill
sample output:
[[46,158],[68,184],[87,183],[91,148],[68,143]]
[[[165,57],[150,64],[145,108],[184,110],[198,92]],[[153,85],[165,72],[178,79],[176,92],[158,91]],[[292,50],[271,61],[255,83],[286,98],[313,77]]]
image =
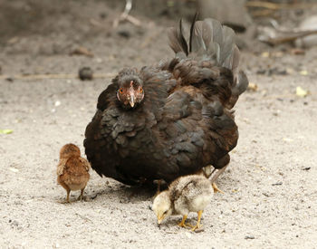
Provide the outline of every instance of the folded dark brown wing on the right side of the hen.
[[[232,113],[219,101],[207,102],[194,87],[180,88],[168,96],[158,127],[165,135],[162,140],[168,142],[161,156],[168,157],[168,162],[157,172],[166,180],[195,173],[208,164],[222,168],[238,138]],[[220,161],[223,158],[226,162]]]

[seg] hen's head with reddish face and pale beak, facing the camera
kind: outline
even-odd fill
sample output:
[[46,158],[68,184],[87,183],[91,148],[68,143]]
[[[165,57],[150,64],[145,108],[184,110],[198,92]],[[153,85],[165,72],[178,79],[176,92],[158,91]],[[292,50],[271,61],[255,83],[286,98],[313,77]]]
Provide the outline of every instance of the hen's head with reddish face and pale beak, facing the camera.
[[117,98],[125,108],[134,108],[143,101],[143,81],[135,70],[121,72],[117,82]]

